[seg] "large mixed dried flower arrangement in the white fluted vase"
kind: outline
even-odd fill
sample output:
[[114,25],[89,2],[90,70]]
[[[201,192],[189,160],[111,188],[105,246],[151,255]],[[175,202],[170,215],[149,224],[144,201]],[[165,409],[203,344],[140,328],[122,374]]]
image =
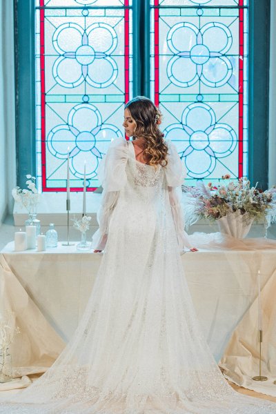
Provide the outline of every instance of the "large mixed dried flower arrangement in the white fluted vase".
[[200,218],[215,221],[228,213],[239,212],[245,221],[264,219],[266,227],[276,221],[276,188],[263,191],[250,187],[250,181],[244,177],[238,181],[229,181],[230,175],[221,177],[226,184],[213,186],[203,183],[195,187],[183,186],[188,195],[186,226],[194,224]]

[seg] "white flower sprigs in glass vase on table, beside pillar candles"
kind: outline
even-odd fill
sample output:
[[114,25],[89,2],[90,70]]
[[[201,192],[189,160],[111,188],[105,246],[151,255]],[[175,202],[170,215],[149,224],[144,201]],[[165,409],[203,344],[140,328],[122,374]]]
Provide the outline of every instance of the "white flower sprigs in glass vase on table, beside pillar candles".
[[12,197],[14,201],[17,201],[21,206],[28,210],[28,213],[35,213],[37,209],[37,203],[39,201],[39,194],[35,186],[35,177],[28,174],[26,175],[27,188],[22,189],[15,187],[12,189]]

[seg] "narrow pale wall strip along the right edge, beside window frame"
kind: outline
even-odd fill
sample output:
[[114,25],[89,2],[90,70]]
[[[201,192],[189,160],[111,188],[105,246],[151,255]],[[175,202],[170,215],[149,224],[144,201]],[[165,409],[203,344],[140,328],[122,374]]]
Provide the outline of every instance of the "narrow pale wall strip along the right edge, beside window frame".
[[276,3],[270,4],[268,188],[276,184]]

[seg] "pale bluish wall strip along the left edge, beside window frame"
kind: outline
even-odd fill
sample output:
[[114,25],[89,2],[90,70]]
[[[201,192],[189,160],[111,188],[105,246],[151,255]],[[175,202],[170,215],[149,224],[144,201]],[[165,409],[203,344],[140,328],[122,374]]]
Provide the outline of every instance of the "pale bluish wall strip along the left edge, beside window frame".
[[0,1],[0,223],[16,185],[13,1]]

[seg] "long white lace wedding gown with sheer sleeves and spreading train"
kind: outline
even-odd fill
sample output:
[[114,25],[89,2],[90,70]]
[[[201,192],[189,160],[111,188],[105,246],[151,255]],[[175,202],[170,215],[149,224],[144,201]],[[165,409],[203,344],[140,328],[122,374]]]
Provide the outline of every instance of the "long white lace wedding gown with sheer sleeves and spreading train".
[[131,142],[110,145],[94,237],[106,248],[86,311],[55,364],[0,413],[276,413],[228,386],[201,335],[179,255],[184,177],[168,146],[168,166],[155,168]]

